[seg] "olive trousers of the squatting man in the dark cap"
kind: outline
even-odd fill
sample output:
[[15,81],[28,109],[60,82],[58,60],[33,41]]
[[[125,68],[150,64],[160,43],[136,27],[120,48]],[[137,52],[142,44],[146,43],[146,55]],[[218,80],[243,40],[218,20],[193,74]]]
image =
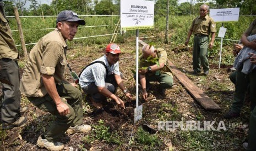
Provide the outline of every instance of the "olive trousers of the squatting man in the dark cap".
[[[64,81],[60,85],[57,84],[56,88],[59,96],[62,97],[62,101],[68,105],[70,110],[70,113],[65,116],[59,115],[55,102],[48,94],[44,97],[28,97],[29,101],[35,104],[36,107],[56,116],[46,132],[43,133],[50,142],[57,142],[70,126],[83,124],[81,91]],[[63,98],[66,98],[67,102]]]

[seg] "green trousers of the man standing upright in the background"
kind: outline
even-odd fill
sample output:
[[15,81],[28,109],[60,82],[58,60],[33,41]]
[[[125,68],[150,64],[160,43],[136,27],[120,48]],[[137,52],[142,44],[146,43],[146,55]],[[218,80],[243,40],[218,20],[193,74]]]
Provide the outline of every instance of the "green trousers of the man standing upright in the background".
[[200,72],[201,67],[204,71],[209,71],[208,63],[208,36],[194,36],[193,44],[193,70],[195,72]]

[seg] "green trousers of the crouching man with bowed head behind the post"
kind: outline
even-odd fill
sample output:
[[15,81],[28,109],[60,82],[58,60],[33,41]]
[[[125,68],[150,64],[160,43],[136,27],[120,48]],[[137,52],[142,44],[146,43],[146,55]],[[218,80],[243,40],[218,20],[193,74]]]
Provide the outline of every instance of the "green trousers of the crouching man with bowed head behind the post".
[[171,75],[166,74],[166,73],[161,73],[159,75],[146,74],[146,87],[148,87],[148,85],[150,85],[149,82],[159,82],[160,89],[168,89],[168,88],[172,88],[172,86],[173,86],[173,79],[172,79]]

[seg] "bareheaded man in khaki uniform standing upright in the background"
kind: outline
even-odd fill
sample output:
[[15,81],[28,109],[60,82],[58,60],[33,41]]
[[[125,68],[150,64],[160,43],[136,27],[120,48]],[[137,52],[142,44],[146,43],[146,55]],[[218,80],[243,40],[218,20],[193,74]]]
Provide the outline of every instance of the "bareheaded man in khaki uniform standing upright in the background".
[[192,25],[188,31],[188,37],[186,39],[185,45],[188,45],[189,38],[194,34],[194,43],[193,43],[193,73],[200,73],[201,66],[203,67],[204,74],[209,74],[209,63],[207,59],[208,55],[208,43],[209,43],[209,34],[211,33],[211,42],[209,48],[213,48],[215,40],[215,22],[208,16],[209,6],[203,4],[200,6],[200,16],[195,18],[192,22]]

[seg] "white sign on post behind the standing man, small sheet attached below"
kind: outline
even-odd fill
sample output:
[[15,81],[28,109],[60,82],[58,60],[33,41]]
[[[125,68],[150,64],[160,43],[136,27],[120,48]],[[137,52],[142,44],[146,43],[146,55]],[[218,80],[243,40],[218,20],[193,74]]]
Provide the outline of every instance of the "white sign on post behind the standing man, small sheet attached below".
[[222,51],[222,40],[225,36],[226,29],[224,28],[224,21],[238,21],[239,19],[239,8],[224,8],[224,9],[210,9],[210,16],[214,19],[215,22],[222,22],[222,27],[220,28],[218,37],[221,37],[220,45],[220,59],[219,59],[219,68],[221,62],[221,51]]

